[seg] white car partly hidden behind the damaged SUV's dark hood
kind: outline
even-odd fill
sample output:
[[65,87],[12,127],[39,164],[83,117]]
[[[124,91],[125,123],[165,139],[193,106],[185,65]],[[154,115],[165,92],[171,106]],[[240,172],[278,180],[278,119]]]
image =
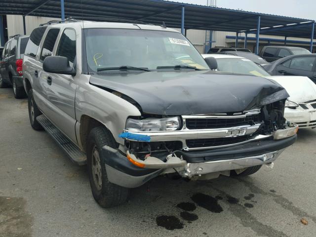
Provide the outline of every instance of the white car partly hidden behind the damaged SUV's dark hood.
[[290,95],[285,103],[284,117],[298,124],[299,128],[316,128],[316,84],[308,77],[270,76],[258,64],[235,55],[202,54],[202,56],[215,58],[217,71],[255,75],[275,80]]

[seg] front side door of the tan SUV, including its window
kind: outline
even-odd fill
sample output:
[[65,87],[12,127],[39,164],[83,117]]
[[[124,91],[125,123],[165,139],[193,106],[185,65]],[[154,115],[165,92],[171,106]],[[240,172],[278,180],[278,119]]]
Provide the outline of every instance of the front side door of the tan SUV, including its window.
[[[66,28],[54,50],[56,56],[68,58],[71,67],[76,68],[76,31]],[[71,75],[49,74],[51,83],[47,85],[47,98],[52,106],[51,120],[73,142],[77,143],[75,133],[75,94],[77,84]]]

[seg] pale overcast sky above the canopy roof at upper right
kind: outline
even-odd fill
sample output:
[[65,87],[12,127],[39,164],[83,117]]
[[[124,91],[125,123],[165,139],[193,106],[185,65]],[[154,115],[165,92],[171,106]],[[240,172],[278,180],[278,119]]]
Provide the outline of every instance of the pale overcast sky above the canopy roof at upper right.
[[[207,0],[174,0],[206,5]],[[316,0],[216,0],[218,7],[316,20]]]

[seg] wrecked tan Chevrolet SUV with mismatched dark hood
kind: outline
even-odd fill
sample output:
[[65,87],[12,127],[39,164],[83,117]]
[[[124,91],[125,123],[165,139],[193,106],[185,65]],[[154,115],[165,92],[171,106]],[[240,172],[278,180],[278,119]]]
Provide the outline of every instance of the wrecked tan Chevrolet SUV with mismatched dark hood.
[[253,174],[296,140],[283,118],[288,94],[208,65],[163,26],[51,22],[32,32],[24,56],[30,122],[87,163],[103,207],[162,174]]

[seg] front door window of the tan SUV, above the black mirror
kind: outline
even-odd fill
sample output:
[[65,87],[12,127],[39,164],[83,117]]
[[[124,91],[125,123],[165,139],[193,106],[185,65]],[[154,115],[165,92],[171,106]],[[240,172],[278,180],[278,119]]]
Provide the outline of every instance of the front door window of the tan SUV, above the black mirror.
[[76,32],[74,30],[64,30],[59,41],[56,55],[68,58],[70,66],[74,65],[76,57]]

